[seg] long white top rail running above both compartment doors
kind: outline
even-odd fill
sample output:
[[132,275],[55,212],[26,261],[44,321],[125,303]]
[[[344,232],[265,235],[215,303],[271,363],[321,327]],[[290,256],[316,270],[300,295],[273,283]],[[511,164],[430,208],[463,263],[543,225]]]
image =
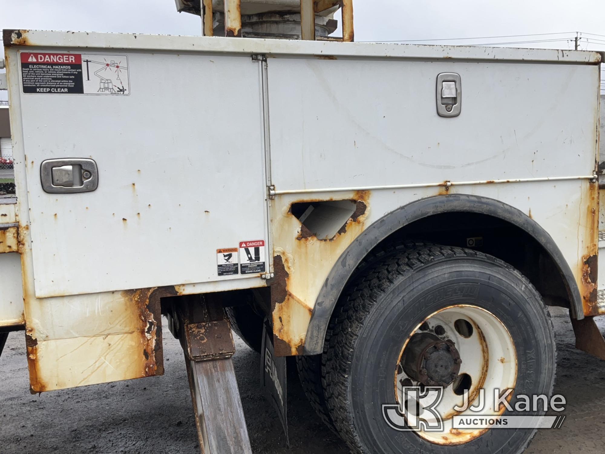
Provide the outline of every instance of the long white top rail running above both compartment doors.
[[[136,33],[82,33],[27,30],[27,46],[46,48],[100,48],[204,53],[314,55],[358,58],[418,58],[423,60],[472,59],[476,61],[517,61],[557,63],[598,63],[601,55],[592,51],[411,45],[389,43],[286,41],[279,39],[233,40],[208,36],[137,35]],[[453,61],[451,61],[453,63]],[[596,83],[596,82],[595,82]]]

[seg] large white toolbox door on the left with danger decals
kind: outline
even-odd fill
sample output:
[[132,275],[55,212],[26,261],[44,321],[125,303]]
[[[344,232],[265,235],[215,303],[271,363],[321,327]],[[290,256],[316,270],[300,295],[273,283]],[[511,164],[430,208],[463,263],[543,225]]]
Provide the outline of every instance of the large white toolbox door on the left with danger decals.
[[[249,55],[71,53],[81,55],[84,82],[65,81],[68,93],[36,93],[31,73],[25,87],[21,64],[36,296],[252,277],[254,266],[219,275],[217,249],[267,239],[259,63]],[[45,192],[41,163],[70,158],[96,162],[97,189]]]

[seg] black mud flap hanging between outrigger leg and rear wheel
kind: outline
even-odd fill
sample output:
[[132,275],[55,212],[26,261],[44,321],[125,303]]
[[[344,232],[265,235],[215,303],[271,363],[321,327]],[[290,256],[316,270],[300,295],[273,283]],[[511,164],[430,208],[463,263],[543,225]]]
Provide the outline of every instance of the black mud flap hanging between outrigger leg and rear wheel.
[[263,344],[261,347],[261,387],[266,398],[284,427],[286,444],[290,447],[288,438],[287,388],[286,388],[286,357],[276,357],[273,349],[273,331],[265,320],[263,324]]

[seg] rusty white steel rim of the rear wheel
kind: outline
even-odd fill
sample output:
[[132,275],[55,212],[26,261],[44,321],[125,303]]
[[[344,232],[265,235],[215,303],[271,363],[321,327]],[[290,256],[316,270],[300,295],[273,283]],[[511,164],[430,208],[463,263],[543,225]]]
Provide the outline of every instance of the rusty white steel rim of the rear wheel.
[[[472,334],[468,335],[465,329],[460,330],[464,323],[456,325],[457,320],[464,320],[472,327]],[[428,329],[427,329],[428,326]],[[436,328],[442,327],[443,330]],[[422,329],[421,329],[422,328]],[[462,331],[462,334],[460,333]],[[416,326],[416,329],[410,333],[399,354],[399,360],[395,369],[395,396],[397,403],[403,400],[402,386],[420,386],[421,383],[411,380],[407,373],[399,366],[405,358],[405,349],[408,346],[410,338],[417,333],[429,332],[437,335],[442,340],[451,340],[460,354],[459,378],[466,374],[471,379],[468,389],[460,393],[465,386],[460,386],[461,380],[455,380],[449,386],[444,387],[443,397],[440,403],[435,407],[443,421],[443,431],[431,432],[425,430],[414,430],[421,438],[442,445],[463,444],[476,439],[489,429],[454,429],[453,417],[460,415],[481,415],[481,416],[500,416],[505,410],[503,405],[494,410],[495,397],[494,389],[504,392],[507,389],[514,390],[517,381],[517,353],[511,334],[506,326],[492,312],[468,304],[456,304],[440,309],[429,315],[425,320]],[[465,334],[465,335],[463,335]],[[407,381],[407,380],[410,381]],[[464,378],[468,384],[468,378]],[[402,385],[405,383],[405,385]],[[457,386],[457,389],[454,387]],[[462,406],[465,395],[468,395],[469,407],[477,404],[479,401],[479,390],[484,389],[484,406],[480,412],[474,412],[467,409],[463,412],[456,412],[454,406]],[[512,396],[513,393],[509,394]],[[502,394],[501,394],[502,395]],[[416,425],[416,417],[427,419],[428,422],[434,421],[434,416],[422,408],[431,404],[435,399],[436,393],[430,392],[423,399],[420,399],[420,414],[408,415],[409,426]],[[496,418],[497,419],[497,418]]]

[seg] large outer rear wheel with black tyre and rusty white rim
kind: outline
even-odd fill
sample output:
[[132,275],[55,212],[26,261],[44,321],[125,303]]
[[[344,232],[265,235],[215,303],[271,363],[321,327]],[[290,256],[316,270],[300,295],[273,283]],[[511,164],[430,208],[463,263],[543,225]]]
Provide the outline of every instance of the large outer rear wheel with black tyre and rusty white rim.
[[[512,389],[513,404],[518,395],[551,396],[552,323],[540,294],[508,264],[468,249],[416,245],[352,281],[332,325],[322,355],[324,396],[353,452],[516,454],[529,445],[535,429],[452,427],[453,416],[468,414],[453,410],[465,393],[476,403],[485,389],[479,414],[492,416],[506,410],[494,410],[494,389]],[[442,432],[387,423],[382,405],[399,404],[403,386],[443,387],[436,407]]]

